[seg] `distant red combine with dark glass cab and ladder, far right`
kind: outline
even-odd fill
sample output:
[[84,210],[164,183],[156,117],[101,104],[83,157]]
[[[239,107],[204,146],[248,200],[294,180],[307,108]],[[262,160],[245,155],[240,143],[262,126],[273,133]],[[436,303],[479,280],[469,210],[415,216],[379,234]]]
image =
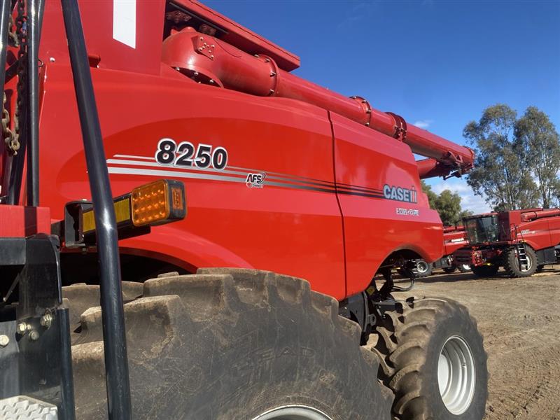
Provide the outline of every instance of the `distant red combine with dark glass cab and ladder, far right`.
[[560,209],[524,209],[463,219],[468,248],[456,260],[470,264],[477,276],[493,276],[500,267],[510,277],[532,276],[557,260]]

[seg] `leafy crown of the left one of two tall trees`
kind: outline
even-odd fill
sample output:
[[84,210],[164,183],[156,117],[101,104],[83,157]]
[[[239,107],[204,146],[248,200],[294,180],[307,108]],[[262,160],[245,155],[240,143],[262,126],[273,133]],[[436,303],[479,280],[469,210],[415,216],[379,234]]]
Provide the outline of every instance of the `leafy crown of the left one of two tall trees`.
[[484,109],[479,122],[471,121],[463,135],[476,151],[475,169],[467,183],[475,194],[503,210],[535,207],[538,188],[526,167],[523,141],[517,138],[517,113],[505,104]]

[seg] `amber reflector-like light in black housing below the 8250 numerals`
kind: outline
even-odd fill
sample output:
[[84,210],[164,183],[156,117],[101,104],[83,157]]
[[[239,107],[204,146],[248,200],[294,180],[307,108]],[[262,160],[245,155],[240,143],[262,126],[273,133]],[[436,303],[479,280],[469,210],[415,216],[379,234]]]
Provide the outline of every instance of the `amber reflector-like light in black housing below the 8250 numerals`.
[[161,225],[186,216],[182,182],[160,179],[134,188],[130,197],[134,226]]

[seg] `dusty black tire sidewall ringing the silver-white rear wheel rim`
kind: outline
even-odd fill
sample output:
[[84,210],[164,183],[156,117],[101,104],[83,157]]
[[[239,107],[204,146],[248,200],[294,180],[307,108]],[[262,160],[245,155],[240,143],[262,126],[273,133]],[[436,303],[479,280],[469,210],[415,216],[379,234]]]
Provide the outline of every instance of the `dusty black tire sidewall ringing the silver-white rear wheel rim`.
[[[480,420],[484,416],[486,409],[488,371],[486,367],[486,352],[477,327],[470,317],[462,311],[455,309],[446,318],[440,318],[436,325],[431,329],[433,335],[428,343],[426,352],[426,365],[423,367],[424,374],[422,387],[423,395],[429,395],[428,406],[431,408],[434,419],[440,420]],[[462,414],[455,415],[445,407],[440,395],[439,384],[437,381],[437,365],[440,352],[449,337],[461,337],[470,347],[472,358],[475,364],[475,393],[468,409]]]

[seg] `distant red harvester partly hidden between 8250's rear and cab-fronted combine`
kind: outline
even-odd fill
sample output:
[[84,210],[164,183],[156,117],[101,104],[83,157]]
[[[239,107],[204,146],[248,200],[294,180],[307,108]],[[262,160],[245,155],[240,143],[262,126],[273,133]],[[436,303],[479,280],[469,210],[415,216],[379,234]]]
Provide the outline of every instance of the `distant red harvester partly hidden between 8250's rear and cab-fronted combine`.
[[426,260],[416,259],[416,265],[413,271],[416,277],[427,277],[432,274],[434,268],[441,268],[446,273],[452,273],[456,269],[460,272],[470,271],[470,265],[458,264],[455,258],[455,252],[458,249],[468,246],[468,241],[464,226],[446,226],[443,228],[443,248],[444,256],[435,262],[426,262]]

